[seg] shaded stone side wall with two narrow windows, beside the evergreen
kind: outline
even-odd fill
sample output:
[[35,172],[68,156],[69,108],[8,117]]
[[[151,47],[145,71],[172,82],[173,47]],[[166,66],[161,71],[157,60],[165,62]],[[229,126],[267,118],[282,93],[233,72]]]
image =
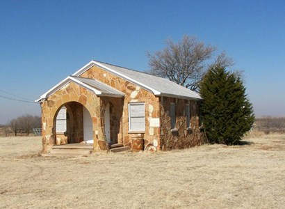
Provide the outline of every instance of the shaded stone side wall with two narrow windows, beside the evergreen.
[[[170,103],[175,104],[176,129],[170,125]],[[186,124],[186,104],[190,105],[190,128]],[[199,115],[196,101],[176,98],[161,98],[161,150],[189,148],[203,144],[206,139],[199,129]]]

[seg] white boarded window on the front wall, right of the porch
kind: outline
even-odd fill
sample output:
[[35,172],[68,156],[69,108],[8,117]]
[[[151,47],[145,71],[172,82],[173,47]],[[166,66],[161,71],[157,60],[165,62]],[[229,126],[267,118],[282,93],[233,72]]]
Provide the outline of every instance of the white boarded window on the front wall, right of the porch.
[[145,103],[129,103],[129,130],[145,131]]

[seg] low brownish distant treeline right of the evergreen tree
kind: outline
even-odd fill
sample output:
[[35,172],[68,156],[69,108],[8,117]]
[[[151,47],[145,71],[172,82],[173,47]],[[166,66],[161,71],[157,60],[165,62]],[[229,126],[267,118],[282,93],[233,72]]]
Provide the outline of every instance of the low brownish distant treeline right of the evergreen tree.
[[256,118],[254,129],[263,131],[266,134],[270,132],[285,133],[285,117],[264,116]]

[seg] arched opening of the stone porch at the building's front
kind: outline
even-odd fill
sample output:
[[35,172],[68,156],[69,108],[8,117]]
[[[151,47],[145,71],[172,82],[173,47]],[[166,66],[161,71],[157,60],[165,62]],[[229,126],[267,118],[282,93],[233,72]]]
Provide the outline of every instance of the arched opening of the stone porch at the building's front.
[[54,117],[55,144],[93,144],[92,118],[79,102],[63,104]]

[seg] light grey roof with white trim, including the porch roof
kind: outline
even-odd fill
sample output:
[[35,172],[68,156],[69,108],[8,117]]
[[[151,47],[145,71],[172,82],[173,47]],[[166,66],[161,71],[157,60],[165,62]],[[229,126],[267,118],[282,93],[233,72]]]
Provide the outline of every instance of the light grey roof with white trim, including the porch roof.
[[180,86],[174,82],[170,82],[168,79],[164,79],[161,77],[157,77],[154,75],[147,74],[145,72],[140,72],[136,70],[131,70],[129,68],[123,68],[117,65],[111,65],[109,63],[103,63],[100,61],[90,61],[84,65],[81,69],[74,72],[72,76],[65,78],[63,81],[58,83],[53,88],[49,89],[46,93],[40,96],[40,99],[36,100],[40,102],[49,97],[49,95],[56,92],[58,89],[62,88],[69,82],[76,82],[77,84],[88,88],[90,91],[96,93],[96,95],[106,95],[106,96],[114,96],[114,97],[122,97],[124,93],[118,91],[107,84],[97,81],[96,79],[88,79],[80,77],[83,72],[92,68],[92,66],[98,66],[106,70],[107,72],[111,72],[113,75],[117,77],[121,77],[132,84],[136,84],[142,88],[145,88],[147,91],[154,93],[157,96],[165,96],[171,98],[182,98],[186,100],[202,100],[199,93],[195,91],[191,91],[184,86]]

